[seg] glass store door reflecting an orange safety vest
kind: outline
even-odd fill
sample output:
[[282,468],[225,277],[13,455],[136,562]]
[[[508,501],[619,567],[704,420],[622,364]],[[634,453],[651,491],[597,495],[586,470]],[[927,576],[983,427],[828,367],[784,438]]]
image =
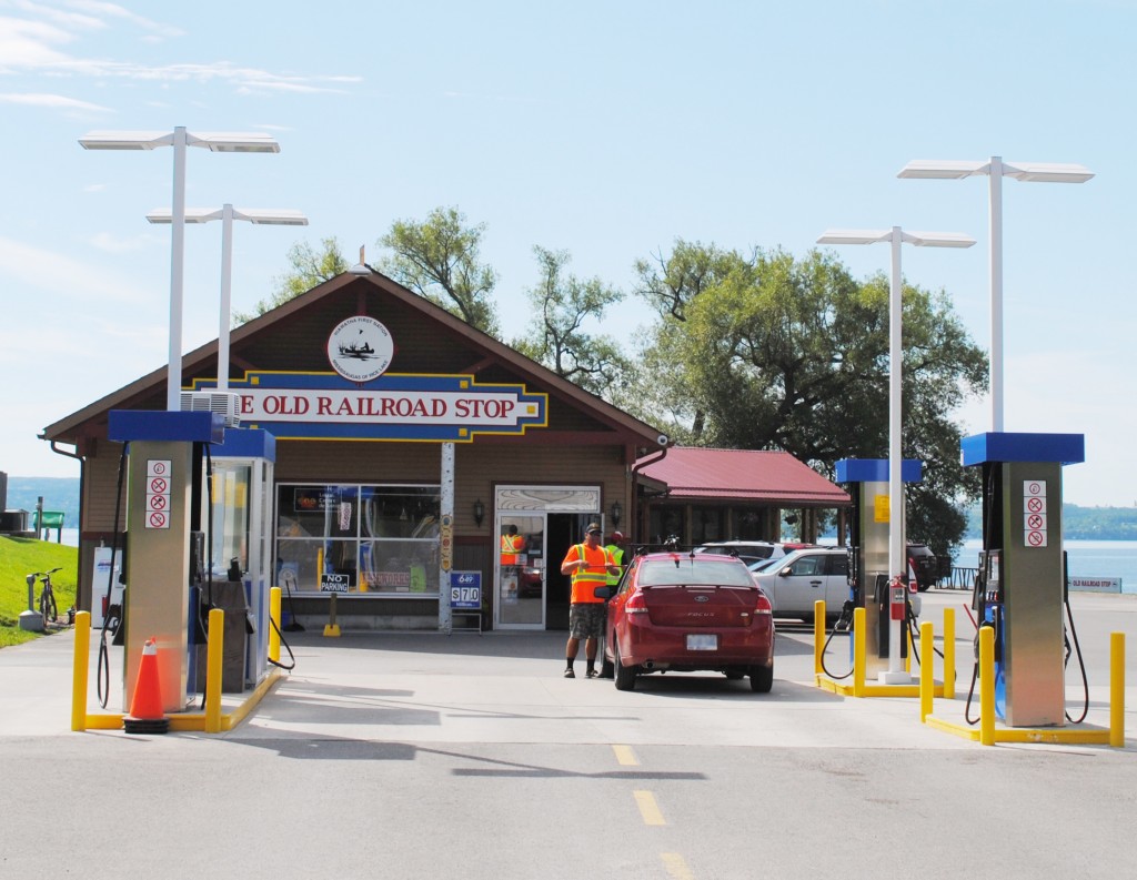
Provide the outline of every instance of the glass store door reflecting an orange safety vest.
[[506,513],[498,517],[497,625],[545,629],[545,514]]

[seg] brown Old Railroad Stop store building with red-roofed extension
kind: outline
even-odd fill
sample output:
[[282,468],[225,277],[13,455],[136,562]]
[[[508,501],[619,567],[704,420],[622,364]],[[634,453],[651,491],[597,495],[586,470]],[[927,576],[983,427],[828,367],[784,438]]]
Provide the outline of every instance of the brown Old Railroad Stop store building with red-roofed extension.
[[[234,330],[233,397],[216,392],[217,349],[186,354],[183,383],[194,405],[227,401],[242,429],[275,438],[263,567],[285,590],[285,613],[309,625],[327,620],[334,596],[346,628],[439,628],[451,574],[464,573],[481,587],[481,628],[566,629],[561,561],[588,522],[632,542],[675,523],[687,542],[777,539],[783,508],[848,504],[783,453],[672,449],[653,426],[374,271],[339,275]],[[108,589],[96,582],[98,548],[126,528],[110,413],[164,409],[166,375],[44,429],[82,463],[82,608]],[[201,470],[210,464],[205,456]],[[193,528],[218,531],[202,543],[224,579],[257,541],[250,517],[207,513],[255,499],[232,474],[211,482],[213,505],[197,505]],[[144,578],[130,562],[127,583]]]

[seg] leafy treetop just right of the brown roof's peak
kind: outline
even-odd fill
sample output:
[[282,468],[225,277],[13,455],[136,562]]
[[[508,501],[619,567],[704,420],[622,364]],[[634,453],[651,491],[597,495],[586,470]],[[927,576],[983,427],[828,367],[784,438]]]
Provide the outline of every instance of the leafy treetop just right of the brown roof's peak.
[[472,327],[498,337],[491,300],[497,273],[478,263],[485,224],[465,223],[457,208],[434,208],[422,223],[396,221],[379,240],[392,251],[379,269]]

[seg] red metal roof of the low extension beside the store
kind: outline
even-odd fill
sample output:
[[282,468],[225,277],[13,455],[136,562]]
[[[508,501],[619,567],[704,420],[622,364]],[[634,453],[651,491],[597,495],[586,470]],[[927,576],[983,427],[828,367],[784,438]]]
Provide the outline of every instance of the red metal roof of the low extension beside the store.
[[667,485],[670,499],[756,501],[808,507],[846,507],[847,492],[789,453],[674,447],[644,467]]

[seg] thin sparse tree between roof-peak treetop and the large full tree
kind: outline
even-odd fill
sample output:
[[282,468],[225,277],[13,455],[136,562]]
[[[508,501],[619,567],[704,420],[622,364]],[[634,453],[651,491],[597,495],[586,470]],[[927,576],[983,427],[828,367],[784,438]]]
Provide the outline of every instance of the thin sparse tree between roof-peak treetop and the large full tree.
[[534,317],[529,335],[515,340],[513,347],[587,391],[612,395],[629,368],[628,360],[615,340],[590,335],[582,326],[588,319],[603,321],[605,309],[623,294],[599,279],[564,275],[567,251],[534,247],[533,254],[541,271],[538,285],[528,293]]

